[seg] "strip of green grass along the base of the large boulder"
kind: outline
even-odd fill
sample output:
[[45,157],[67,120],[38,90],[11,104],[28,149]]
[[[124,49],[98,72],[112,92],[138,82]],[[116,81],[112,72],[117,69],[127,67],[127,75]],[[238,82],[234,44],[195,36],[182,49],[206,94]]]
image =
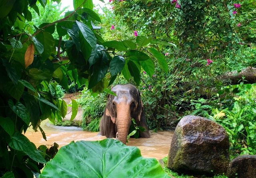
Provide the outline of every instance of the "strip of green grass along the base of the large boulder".
[[207,177],[207,176],[193,176],[193,175],[184,175],[184,174],[180,174],[178,172],[174,172],[173,170],[170,170],[166,167],[167,165],[167,157],[163,158],[164,161],[164,171],[169,174],[172,178],[228,178],[227,176],[224,175],[215,175],[213,177]]

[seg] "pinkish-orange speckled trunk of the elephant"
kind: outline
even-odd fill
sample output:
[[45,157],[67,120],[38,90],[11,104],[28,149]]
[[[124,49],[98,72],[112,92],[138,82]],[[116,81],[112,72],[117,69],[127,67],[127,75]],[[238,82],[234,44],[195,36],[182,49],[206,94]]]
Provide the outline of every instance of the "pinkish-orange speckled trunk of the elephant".
[[[127,108],[127,109],[126,109]],[[116,126],[118,132],[118,140],[126,144],[127,135],[131,125],[130,108],[121,107],[121,110],[117,108]]]

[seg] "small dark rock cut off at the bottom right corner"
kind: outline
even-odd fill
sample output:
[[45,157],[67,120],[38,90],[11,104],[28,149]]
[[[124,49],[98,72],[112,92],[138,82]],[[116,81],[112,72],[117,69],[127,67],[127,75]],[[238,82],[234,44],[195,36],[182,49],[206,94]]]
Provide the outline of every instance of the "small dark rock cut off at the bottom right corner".
[[228,166],[229,178],[255,178],[256,155],[242,155],[234,158]]

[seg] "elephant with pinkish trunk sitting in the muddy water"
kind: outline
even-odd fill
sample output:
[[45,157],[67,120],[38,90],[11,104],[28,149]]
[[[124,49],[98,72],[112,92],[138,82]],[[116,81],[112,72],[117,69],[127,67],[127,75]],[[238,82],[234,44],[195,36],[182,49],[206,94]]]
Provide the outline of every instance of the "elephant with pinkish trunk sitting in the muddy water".
[[104,114],[100,120],[100,135],[107,138],[117,138],[126,144],[129,128],[134,118],[137,126],[145,128],[139,137],[150,138],[139,90],[132,84],[118,84],[108,95]]

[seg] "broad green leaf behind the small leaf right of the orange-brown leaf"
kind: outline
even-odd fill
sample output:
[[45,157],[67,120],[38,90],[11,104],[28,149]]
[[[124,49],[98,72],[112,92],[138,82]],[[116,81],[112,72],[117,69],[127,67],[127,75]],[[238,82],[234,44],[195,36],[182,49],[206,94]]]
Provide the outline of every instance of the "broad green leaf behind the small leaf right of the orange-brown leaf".
[[41,57],[42,60],[46,60],[52,53],[56,52],[56,48],[54,46],[54,38],[52,34],[49,32],[40,32],[36,36],[38,41],[44,46],[44,52],[42,52]]

